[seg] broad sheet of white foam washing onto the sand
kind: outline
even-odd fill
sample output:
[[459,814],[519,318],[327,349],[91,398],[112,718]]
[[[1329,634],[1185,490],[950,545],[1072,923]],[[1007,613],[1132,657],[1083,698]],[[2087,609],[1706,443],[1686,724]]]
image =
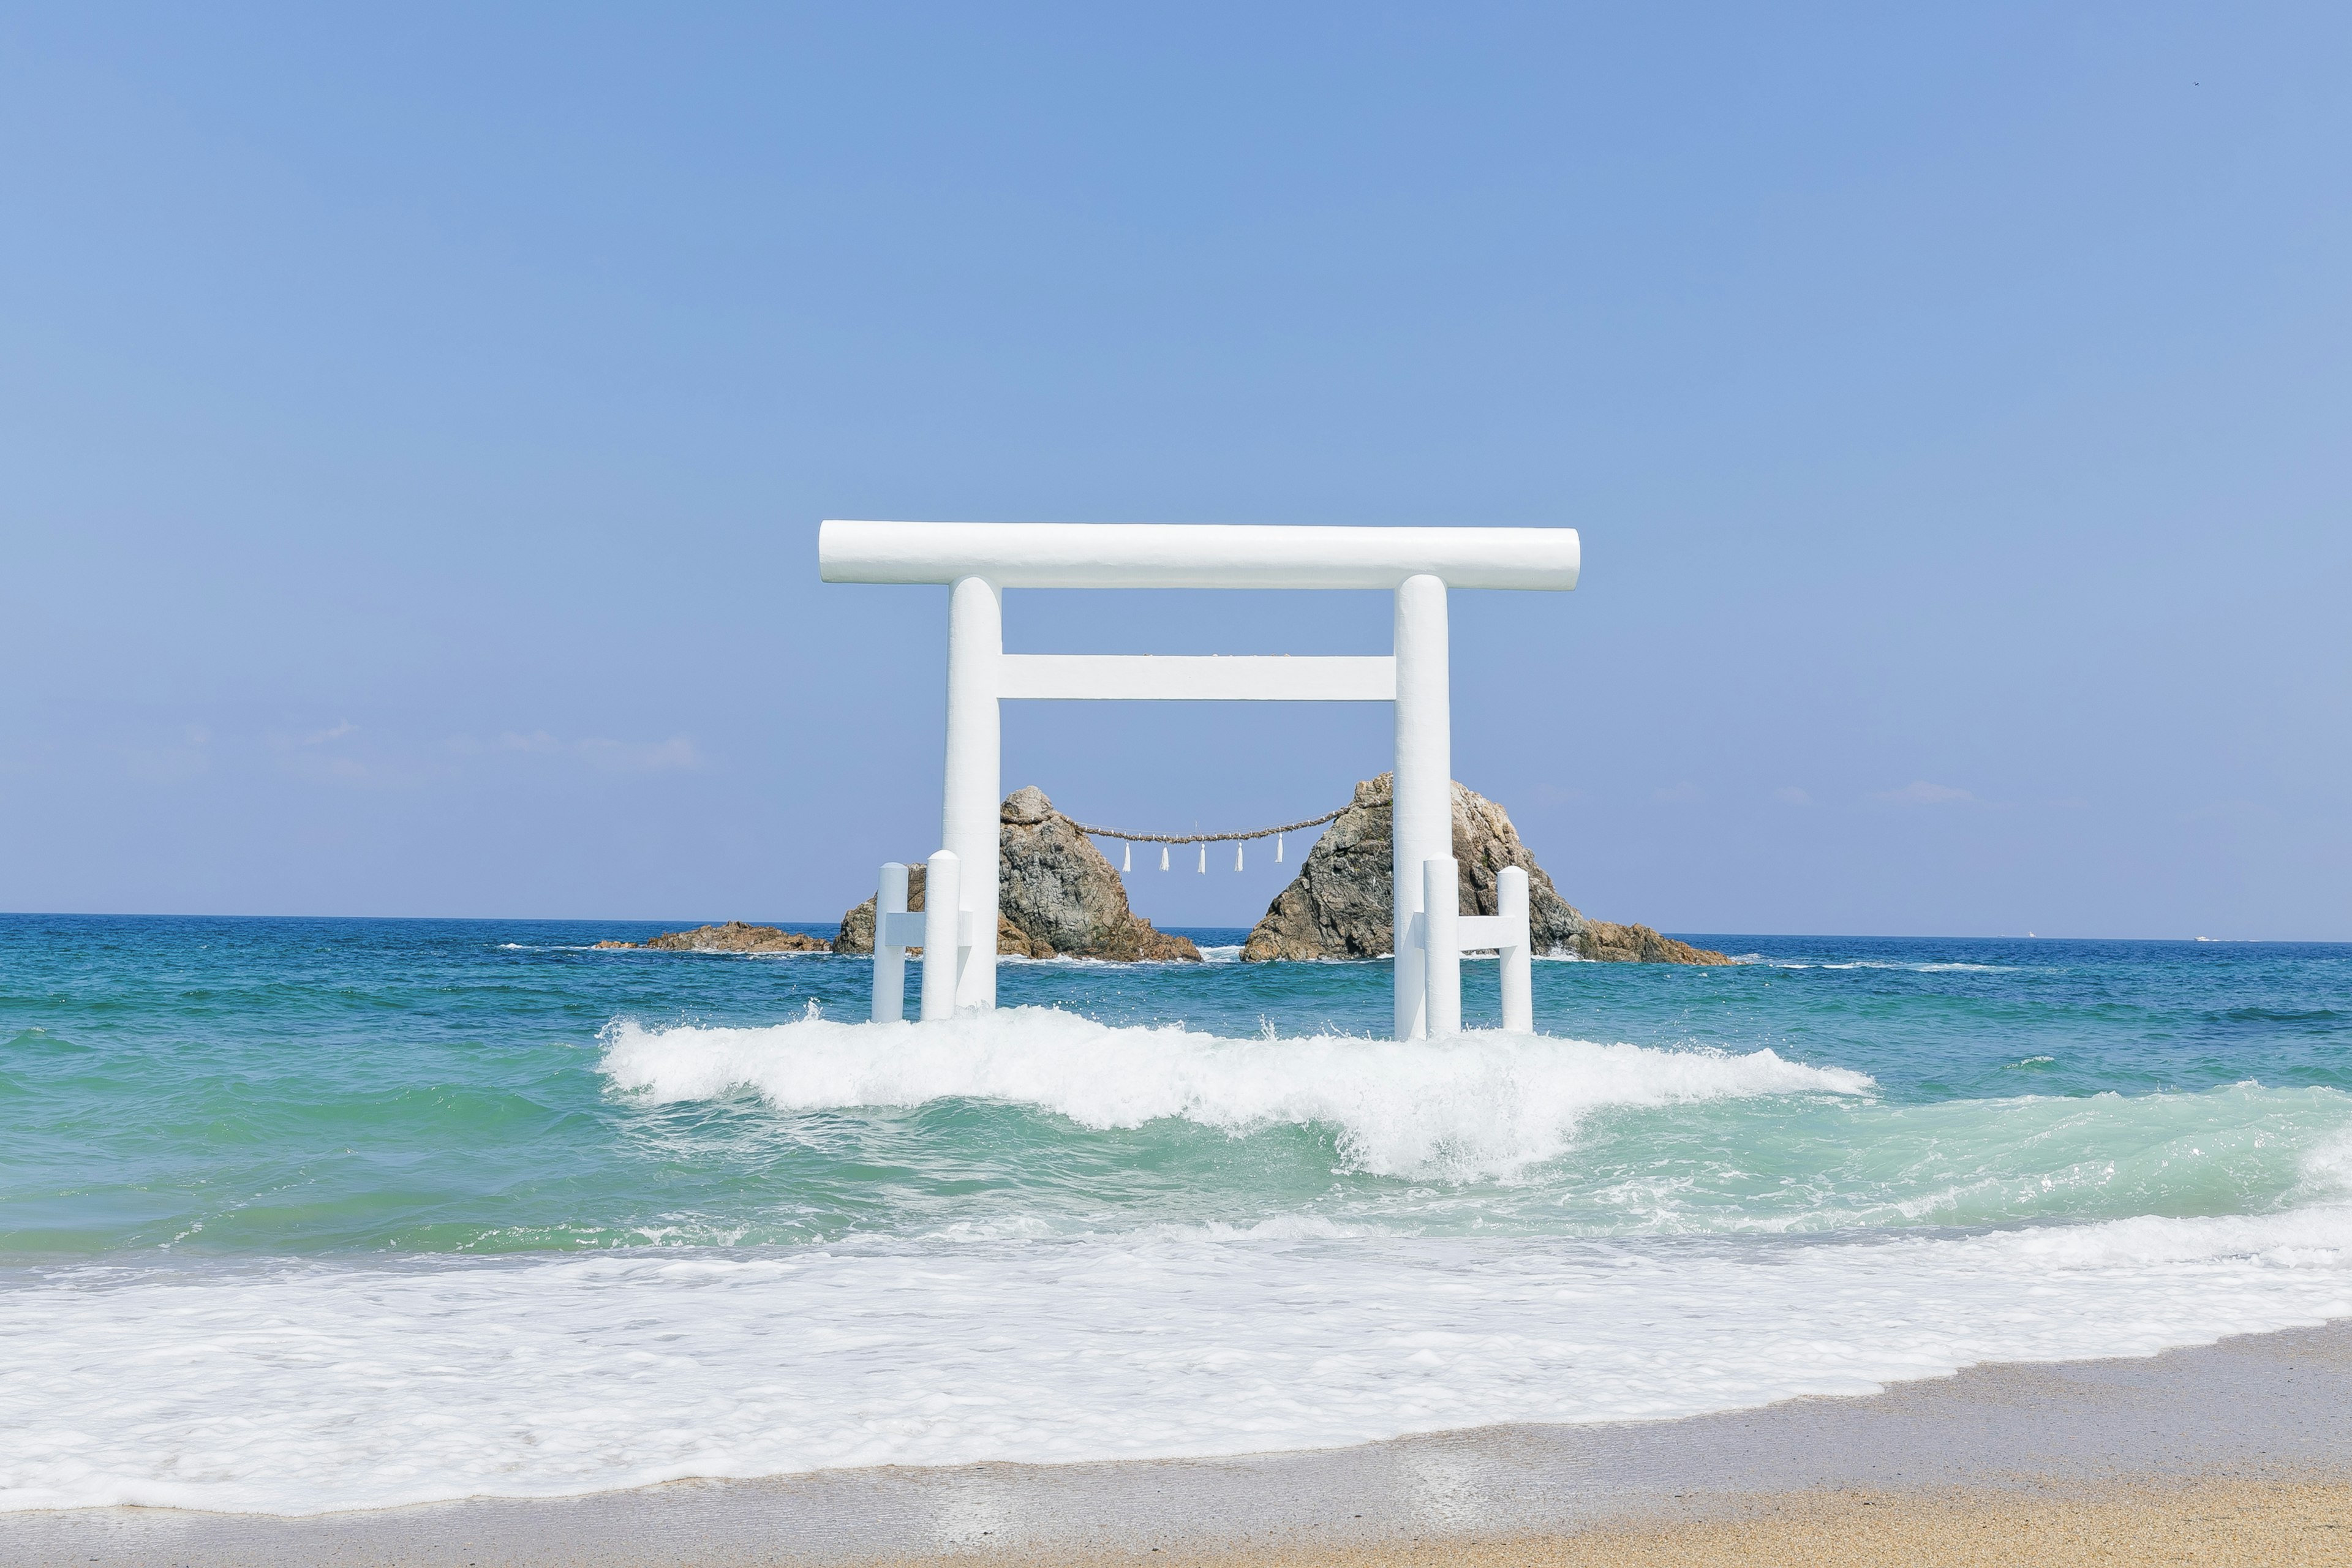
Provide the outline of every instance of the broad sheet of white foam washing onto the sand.
[[762,1258],[19,1272],[0,1507],[322,1512],[1336,1446],[2352,1314],[2352,1211],[1889,1241],[1160,1227]]

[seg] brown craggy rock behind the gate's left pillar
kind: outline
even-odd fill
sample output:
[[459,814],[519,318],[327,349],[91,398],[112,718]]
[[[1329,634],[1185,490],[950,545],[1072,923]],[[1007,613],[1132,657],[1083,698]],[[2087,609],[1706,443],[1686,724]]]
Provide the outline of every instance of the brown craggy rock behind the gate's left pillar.
[[[1127,884],[1094,839],[1030,785],[1004,797],[997,856],[997,952],[1023,959],[1200,961],[1183,936],[1127,907]],[[922,907],[922,860],[908,860],[906,907]],[[833,952],[875,950],[875,900],[842,914]]]

